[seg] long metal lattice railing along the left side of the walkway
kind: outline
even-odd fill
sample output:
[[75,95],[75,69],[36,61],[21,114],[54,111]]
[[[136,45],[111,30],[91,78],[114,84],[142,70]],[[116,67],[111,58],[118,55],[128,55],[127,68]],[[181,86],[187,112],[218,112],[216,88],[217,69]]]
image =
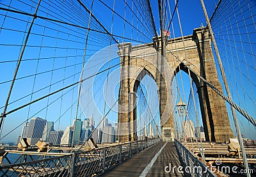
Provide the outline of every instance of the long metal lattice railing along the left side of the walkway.
[[0,164],[0,176],[92,176],[104,173],[159,141],[148,139],[127,142],[59,157],[42,155],[40,158],[34,157],[37,160],[22,163],[20,160],[14,163],[6,160],[6,164]]

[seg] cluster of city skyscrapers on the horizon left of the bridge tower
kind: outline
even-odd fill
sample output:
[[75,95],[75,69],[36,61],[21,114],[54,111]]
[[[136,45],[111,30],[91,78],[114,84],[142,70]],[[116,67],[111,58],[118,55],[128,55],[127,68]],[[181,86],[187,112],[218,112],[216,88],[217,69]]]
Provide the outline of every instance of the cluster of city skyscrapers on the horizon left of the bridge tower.
[[[75,126],[76,130],[74,130]],[[95,142],[106,143],[115,142],[115,134],[116,129],[112,127],[111,123],[108,123],[108,119],[105,121],[104,130],[102,130],[102,127],[99,128],[99,130],[95,130],[93,115],[91,115],[89,119],[83,119],[83,121],[81,121],[81,119],[73,119],[73,124],[66,127],[65,131],[55,130],[53,121],[35,117],[31,118],[30,122],[24,123],[22,132],[17,137],[16,144],[18,144],[22,138],[26,138],[30,145],[35,145],[37,141],[49,141],[49,143],[53,145],[77,144],[83,143],[91,137]],[[74,141],[72,142],[73,138]]]

